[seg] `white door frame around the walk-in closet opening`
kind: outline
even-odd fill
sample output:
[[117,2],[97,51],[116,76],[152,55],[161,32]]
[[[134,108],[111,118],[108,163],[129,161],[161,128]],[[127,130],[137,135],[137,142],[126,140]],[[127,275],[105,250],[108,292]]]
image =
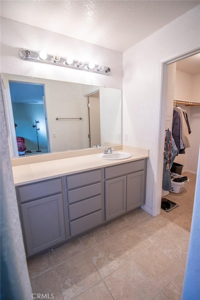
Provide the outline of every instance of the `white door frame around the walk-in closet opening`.
[[158,216],[161,210],[162,197],[162,180],[163,180],[163,143],[165,137],[165,123],[166,123],[166,107],[167,107],[167,84],[168,84],[168,65],[178,62],[184,58],[200,53],[200,44],[193,45],[186,49],[172,54],[171,56],[160,60],[159,73],[159,97],[160,97],[160,113],[158,120],[158,151],[157,151],[157,169],[155,174],[153,186],[153,203],[152,215]]

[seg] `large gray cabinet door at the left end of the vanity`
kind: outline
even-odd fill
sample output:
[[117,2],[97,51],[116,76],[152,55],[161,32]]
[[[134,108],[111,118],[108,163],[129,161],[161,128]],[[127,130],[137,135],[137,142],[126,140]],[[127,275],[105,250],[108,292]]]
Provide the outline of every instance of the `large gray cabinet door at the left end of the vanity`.
[[28,256],[66,239],[62,194],[23,203],[21,212]]

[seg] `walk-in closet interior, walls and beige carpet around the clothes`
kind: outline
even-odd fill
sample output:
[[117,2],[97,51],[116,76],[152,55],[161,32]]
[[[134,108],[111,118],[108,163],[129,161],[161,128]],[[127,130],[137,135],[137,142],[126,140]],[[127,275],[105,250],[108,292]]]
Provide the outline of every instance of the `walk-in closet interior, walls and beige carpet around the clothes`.
[[[173,111],[178,107],[186,112],[189,123],[190,147],[174,159],[175,173],[187,176],[188,181],[179,185],[176,191],[163,191],[162,198],[178,204],[170,211],[161,209],[161,215],[190,232],[194,192],[196,184],[198,153],[200,144],[200,54],[169,65],[166,129],[173,132]],[[191,133],[190,133],[191,131]],[[180,192],[179,192],[180,188]]]

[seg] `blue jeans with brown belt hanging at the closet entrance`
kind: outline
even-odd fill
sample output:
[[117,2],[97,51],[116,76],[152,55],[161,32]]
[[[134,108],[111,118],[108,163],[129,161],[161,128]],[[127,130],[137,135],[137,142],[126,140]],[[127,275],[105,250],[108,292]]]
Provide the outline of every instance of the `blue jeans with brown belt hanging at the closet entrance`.
[[170,169],[173,161],[177,155],[178,148],[172,137],[169,129],[165,132],[165,145],[164,145],[164,160],[163,160],[163,190],[170,191],[172,188]]

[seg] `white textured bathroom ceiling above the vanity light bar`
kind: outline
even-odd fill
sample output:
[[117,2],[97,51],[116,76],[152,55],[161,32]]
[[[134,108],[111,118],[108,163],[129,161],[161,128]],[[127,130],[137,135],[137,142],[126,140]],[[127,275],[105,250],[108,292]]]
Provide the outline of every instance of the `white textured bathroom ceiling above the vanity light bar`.
[[18,0],[1,16],[124,52],[200,1]]

